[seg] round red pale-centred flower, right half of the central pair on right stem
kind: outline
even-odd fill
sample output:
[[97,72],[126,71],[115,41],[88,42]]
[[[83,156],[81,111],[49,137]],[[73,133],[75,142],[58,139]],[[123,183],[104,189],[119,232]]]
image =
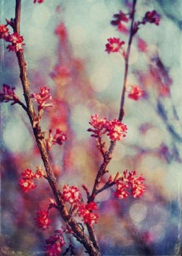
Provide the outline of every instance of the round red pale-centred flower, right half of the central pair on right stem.
[[127,133],[127,125],[124,125],[119,120],[110,121],[107,125],[108,133],[110,140],[122,140],[125,137],[125,133]]

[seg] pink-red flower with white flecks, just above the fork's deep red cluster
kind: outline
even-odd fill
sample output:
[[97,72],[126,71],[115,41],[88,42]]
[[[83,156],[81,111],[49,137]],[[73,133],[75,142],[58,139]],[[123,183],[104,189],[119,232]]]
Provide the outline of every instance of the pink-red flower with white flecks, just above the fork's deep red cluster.
[[66,202],[70,202],[70,204],[73,203],[79,203],[81,200],[81,193],[77,187],[70,187],[70,185],[65,184],[63,187],[63,195],[64,200]]

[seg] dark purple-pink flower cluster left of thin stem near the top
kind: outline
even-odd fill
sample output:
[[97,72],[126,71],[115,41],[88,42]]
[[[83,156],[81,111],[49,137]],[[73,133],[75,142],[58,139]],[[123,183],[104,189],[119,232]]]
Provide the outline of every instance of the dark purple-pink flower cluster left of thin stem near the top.
[[110,23],[112,25],[118,26],[118,31],[127,33],[128,29],[127,27],[125,27],[125,25],[123,25],[123,22],[129,21],[129,18],[127,18],[127,14],[125,14],[124,12],[122,12],[122,10],[120,10],[118,14],[114,14],[114,18],[115,20],[112,20]]

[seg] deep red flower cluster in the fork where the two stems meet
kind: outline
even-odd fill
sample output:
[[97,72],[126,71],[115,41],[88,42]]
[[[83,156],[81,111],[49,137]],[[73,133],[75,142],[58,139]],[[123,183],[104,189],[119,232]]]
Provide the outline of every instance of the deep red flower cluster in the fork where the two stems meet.
[[96,202],[89,202],[88,204],[79,204],[79,216],[83,217],[83,222],[89,225],[97,223],[99,215],[93,213],[93,210],[98,210]]

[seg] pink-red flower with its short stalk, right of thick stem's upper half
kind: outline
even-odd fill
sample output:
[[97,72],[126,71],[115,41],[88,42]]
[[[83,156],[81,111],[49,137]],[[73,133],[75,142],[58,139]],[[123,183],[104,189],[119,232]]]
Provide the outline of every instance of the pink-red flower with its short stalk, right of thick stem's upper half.
[[52,95],[50,93],[50,89],[47,89],[46,86],[44,86],[40,88],[40,93],[32,93],[31,97],[38,103],[38,116],[34,120],[35,127],[40,123],[42,114],[44,113],[44,108],[53,106],[53,103],[47,103],[48,100],[52,99]]

